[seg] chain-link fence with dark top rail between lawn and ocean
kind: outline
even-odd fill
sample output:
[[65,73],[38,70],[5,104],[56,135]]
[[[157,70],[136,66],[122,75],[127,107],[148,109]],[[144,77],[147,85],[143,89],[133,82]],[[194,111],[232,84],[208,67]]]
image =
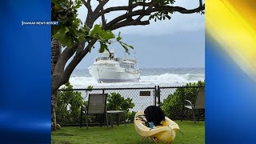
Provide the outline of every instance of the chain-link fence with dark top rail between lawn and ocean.
[[[73,90],[58,90],[59,92],[79,93],[82,96],[82,101],[88,101],[89,94],[120,94],[122,98],[130,98],[134,103],[134,107],[129,111],[138,112],[146,109],[147,106],[162,106],[162,102],[170,94],[174,94],[177,89],[198,89],[204,86],[170,86],[170,87],[140,87],[140,88],[101,88],[101,89],[73,89]],[[182,95],[180,95],[182,97]],[[181,103],[182,105],[182,103]],[[79,115],[78,115],[79,117]],[[130,118],[129,122],[132,122]]]

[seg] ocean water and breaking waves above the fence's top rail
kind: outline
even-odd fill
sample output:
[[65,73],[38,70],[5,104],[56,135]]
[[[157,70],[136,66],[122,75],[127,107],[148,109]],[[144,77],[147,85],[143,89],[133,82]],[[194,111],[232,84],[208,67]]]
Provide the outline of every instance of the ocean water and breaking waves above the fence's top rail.
[[140,69],[139,82],[98,83],[87,69],[74,70],[70,83],[74,89],[87,86],[94,88],[119,88],[119,87],[154,87],[154,86],[183,86],[188,82],[205,80],[204,68],[166,68],[166,69]]

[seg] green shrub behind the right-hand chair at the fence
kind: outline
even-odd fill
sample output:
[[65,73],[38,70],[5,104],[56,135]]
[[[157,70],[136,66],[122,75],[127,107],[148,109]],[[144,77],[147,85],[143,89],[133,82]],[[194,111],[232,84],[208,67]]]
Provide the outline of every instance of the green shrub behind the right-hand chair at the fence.
[[[186,86],[205,86],[205,82],[194,82],[187,83]],[[198,90],[202,88],[177,88],[174,94],[169,94],[169,96],[163,100],[162,110],[169,116],[171,119],[181,118],[182,113],[182,104],[185,99],[190,100],[194,103]],[[204,110],[200,111],[204,115]],[[195,113],[197,114],[197,113]],[[193,118],[191,113],[184,114],[183,118]]]

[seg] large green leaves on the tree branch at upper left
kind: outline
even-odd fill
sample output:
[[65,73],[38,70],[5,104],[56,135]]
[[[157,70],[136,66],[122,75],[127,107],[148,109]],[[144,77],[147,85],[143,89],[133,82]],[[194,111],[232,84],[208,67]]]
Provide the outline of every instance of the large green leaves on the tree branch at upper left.
[[[86,24],[82,25],[82,21],[78,18],[78,8],[82,6],[82,1],[75,0],[53,0],[52,1],[52,18],[58,20],[59,26],[52,26],[52,38],[57,38],[63,47],[72,48],[75,42],[95,42],[100,43],[99,52],[102,53],[107,49],[107,45],[111,44],[111,39],[115,38],[111,30],[103,30],[102,26],[96,24],[92,30]],[[120,33],[116,42],[128,52],[127,45],[121,41]],[[91,45],[94,48],[94,45]]]

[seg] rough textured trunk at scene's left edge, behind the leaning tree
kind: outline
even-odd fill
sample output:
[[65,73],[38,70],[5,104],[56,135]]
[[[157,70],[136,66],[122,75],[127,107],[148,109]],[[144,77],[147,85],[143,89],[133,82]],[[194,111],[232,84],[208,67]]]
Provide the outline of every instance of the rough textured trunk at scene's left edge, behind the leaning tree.
[[[51,41],[51,74],[54,73],[54,68],[58,62],[58,58],[61,54],[61,45],[56,38]],[[56,110],[57,110],[57,98],[58,91],[51,92],[51,130],[56,130]]]

